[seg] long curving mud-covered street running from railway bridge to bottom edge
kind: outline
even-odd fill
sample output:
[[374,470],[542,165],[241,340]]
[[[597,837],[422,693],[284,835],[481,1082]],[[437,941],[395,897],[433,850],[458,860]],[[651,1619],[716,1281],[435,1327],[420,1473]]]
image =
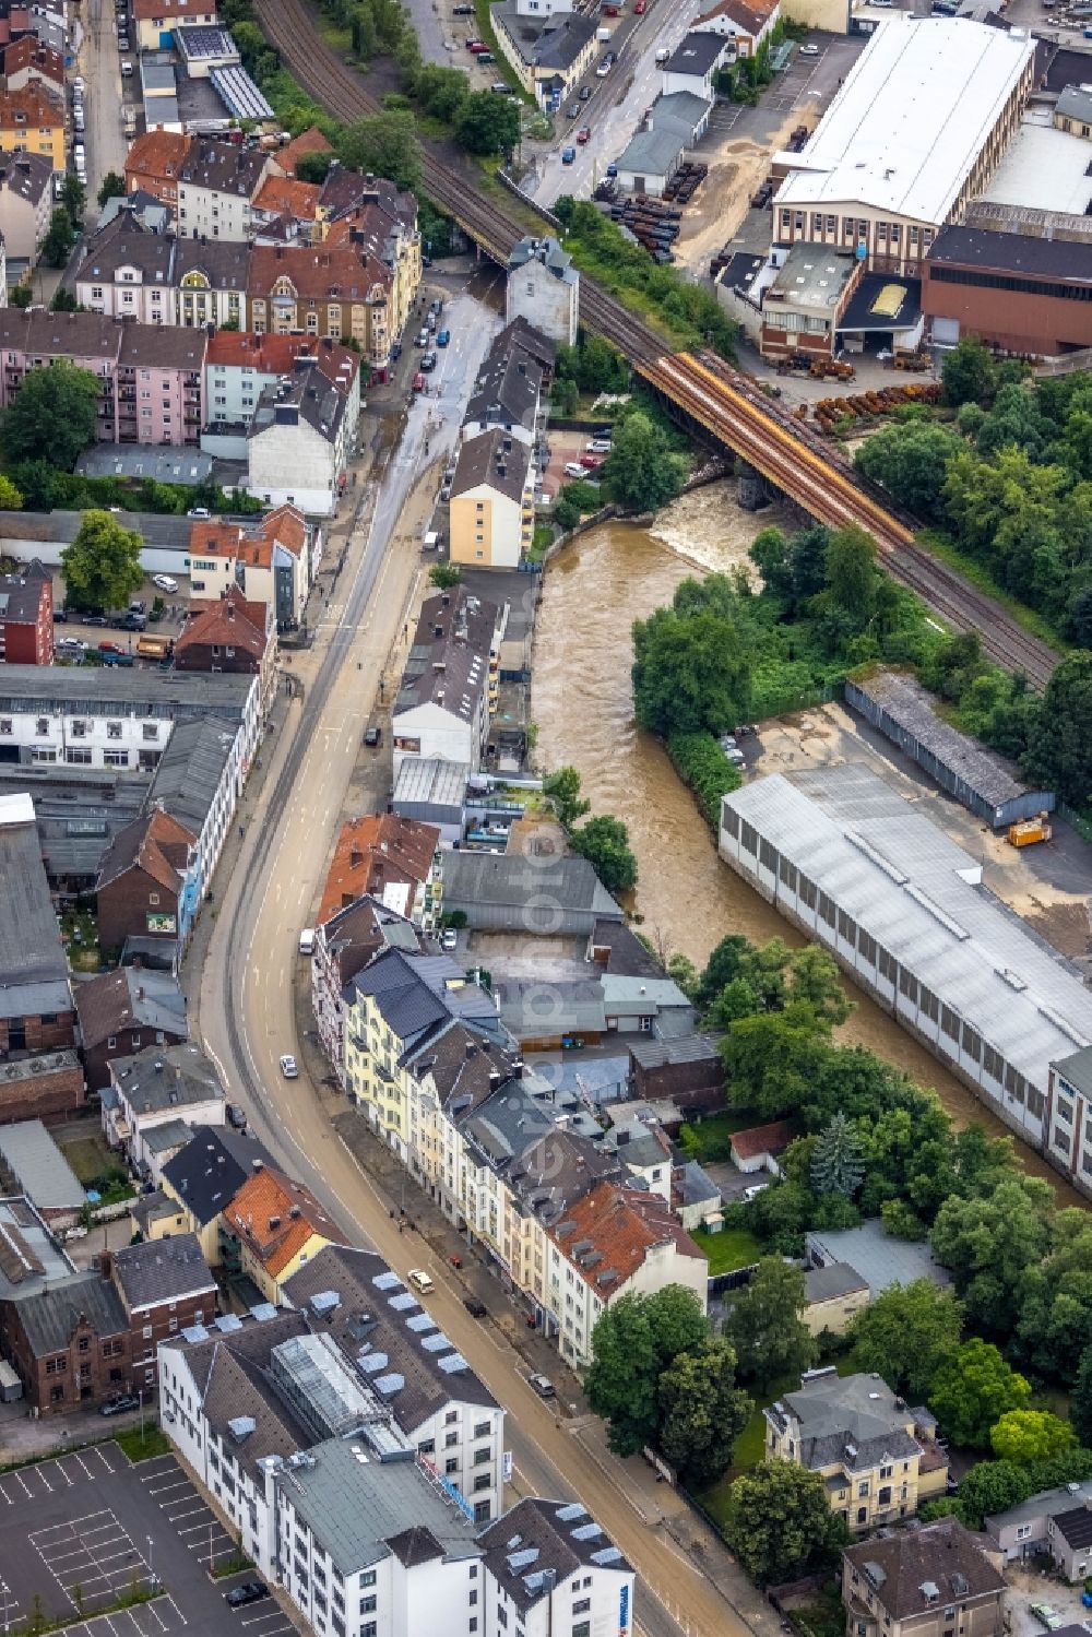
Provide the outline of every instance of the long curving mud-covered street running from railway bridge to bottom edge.
[[[278,1069],[282,1053],[303,1059],[293,1026],[293,982],[305,979],[300,928],[319,894],[377,684],[404,624],[421,563],[419,489],[434,489],[437,457],[453,447],[490,337],[483,313],[470,296],[445,308],[452,347],[440,370],[442,396],[416,401],[398,445],[391,449],[388,440],[381,447],[344,570],[318,614],[314,647],[291,656],[303,699],[291,699],[283,725],[267,742],[265,782],[250,799],[254,805],[247,802],[241,812],[246,840],[234,859],[221,861],[214,905],[205,910],[214,915],[211,933],[205,931],[208,949],[200,984],[196,974],[188,982],[195,1035],[216,1061],[228,1097],[246,1105],[255,1134],[323,1198],[355,1242],[372,1244],[401,1277],[411,1265],[429,1267],[437,1287],[431,1310],[509,1411],[514,1488],[575,1495],[591,1509],[639,1570],[637,1619],[647,1637],[774,1632],[776,1616],[753,1594],[748,1601],[758,1606],[758,1617],[745,1622],[696,1558],[676,1545],[671,1522],[679,1513],[689,1522],[689,1513],[673,1491],[657,1488],[643,1462],[619,1463],[594,1418],[565,1421],[532,1393],[516,1352],[493,1326],[468,1316],[442,1259],[422,1254],[413,1233],[398,1233],[386,1200],[334,1134],[319,1087],[306,1071],[287,1082]],[[406,506],[414,522],[399,529]],[[203,938],[192,959],[200,959],[201,945]],[[327,1102],[334,1110],[344,1107]],[[738,1576],[712,1537],[709,1555],[720,1560],[719,1578]]]

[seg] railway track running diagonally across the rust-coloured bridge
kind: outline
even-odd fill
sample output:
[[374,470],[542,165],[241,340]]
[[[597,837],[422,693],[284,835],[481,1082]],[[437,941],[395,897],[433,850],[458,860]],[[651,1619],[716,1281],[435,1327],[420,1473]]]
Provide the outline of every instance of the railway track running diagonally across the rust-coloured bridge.
[[[305,0],[255,0],[270,44],[300,85],[342,121],[381,113],[380,101],[327,46]],[[504,264],[524,228],[485,198],[472,175],[422,149],[426,192],[496,262]],[[530,206],[534,208],[534,206]],[[758,391],[712,354],[665,354],[663,340],[589,278],[581,280],[581,319],[611,340],[650,386],[712,439],[742,455],[769,483],[820,522],[855,524],[876,540],[889,573],[915,591],[954,630],[974,630],[984,650],[1045,688],[1056,655],[961,575],[917,545],[912,529],[861,485],[851,465],[819,434]]]

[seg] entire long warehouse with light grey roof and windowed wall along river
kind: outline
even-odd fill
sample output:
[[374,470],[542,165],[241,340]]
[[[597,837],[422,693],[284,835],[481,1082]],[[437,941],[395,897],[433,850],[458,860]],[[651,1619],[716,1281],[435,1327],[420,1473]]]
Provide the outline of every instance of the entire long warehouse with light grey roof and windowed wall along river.
[[977,859],[860,763],[725,796],[720,855],[1059,1164],[1049,1066],[1092,1044],[1092,994],[982,886]]

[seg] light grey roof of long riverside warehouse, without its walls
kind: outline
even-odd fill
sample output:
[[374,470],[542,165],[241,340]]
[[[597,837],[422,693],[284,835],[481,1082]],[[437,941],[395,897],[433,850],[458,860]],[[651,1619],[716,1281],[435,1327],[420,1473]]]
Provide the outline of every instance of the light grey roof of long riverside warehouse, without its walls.
[[725,796],[732,810],[1033,1087],[1046,1092],[1046,1066],[1092,1044],[1076,969],[974,886],[979,861],[869,768],[776,773]]

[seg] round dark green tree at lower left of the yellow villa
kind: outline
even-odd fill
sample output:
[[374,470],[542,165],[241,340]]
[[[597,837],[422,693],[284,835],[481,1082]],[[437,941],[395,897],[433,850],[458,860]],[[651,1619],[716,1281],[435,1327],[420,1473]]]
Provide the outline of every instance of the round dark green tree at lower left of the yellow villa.
[[763,1460],[732,1485],[724,1537],[760,1586],[827,1568],[850,1539],[819,1472]]

